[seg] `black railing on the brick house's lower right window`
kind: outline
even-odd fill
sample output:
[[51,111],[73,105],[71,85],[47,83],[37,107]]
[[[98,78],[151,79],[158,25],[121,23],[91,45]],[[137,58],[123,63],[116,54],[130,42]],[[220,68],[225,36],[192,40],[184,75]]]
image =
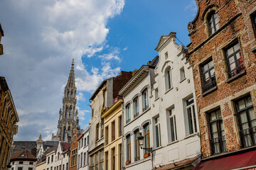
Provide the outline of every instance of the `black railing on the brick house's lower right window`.
[[242,147],[251,147],[256,145],[256,127],[240,130]]

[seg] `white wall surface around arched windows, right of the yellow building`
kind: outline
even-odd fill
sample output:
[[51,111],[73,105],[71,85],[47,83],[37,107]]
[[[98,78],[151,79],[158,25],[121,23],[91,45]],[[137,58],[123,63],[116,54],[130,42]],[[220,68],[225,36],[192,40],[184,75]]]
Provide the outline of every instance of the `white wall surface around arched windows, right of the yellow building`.
[[[151,88],[150,84],[151,77],[150,73],[154,72],[154,69],[149,69],[149,72],[145,73],[146,77],[143,79],[138,79],[137,86],[135,86],[131,91],[129,91],[128,94],[124,95],[124,166],[125,169],[151,169],[151,157],[144,158],[144,151],[142,149],[139,149],[139,160],[135,161],[135,138],[134,138],[134,130],[139,129],[140,132],[143,131],[142,126],[144,123],[151,123],[151,103],[150,103],[150,96],[151,96]],[[136,76],[136,75],[135,75]],[[142,76],[143,77],[143,76]],[[142,111],[142,91],[144,89],[147,89],[148,92],[148,102],[149,102],[149,108],[146,111]],[[139,115],[134,118],[134,103],[133,99],[134,97],[139,96]],[[131,114],[131,121],[129,123],[126,123],[127,115],[125,113],[125,108],[127,104],[130,103],[130,114]],[[151,131],[151,126],[150,131]],[[127,162],[127,135],[131,135],[131,164],[125,164]],[[150,137],[150,143],[152,144],[151,137]]]

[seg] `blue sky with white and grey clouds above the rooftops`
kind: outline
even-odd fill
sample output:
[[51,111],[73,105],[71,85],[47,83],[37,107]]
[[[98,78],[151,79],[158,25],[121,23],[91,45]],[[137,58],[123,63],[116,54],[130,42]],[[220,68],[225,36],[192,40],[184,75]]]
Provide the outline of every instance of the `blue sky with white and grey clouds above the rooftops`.
[[75,59],[78,117],[90,122],[90,101],[102,80],[139,69],[158,53],[161,35],[188,45],[195,0],[1,0],[0,76],[18,113],[14,140],[51,140]]

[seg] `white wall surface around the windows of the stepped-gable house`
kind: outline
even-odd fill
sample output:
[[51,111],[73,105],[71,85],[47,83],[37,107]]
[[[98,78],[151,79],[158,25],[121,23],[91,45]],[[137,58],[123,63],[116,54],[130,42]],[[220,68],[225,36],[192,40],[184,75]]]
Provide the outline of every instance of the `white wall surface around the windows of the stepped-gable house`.
[[[186,62],[185,52],[182,52],[183,47],[176,44],[175,37],[171,38],[171,35],[169,35],[169,37],[162,38],[160,39],[160,44],[159,63],[155,68],[156,82],[154,83],[153,97],[151,98],[151,116],[154,118],[159,115],[161,127],[161,147],[156,148],[153,145],[154,166],[156,167],[193,158],[201,153],[192,67],[189,62]],[[168,55],[166,55],[166,52]],[[181,79],[180,70],[182,67],[185,72],[185,79]],[[165,70],[168,68],[171,68],[172,81],[172,88],[169,90],[166,89],[165,81]],[[158,89],[159,98],[155,96],[156,89]],[[197,128],[197,132],[193,132],[191,135],[188,130],[188,113],[186,109],[186,100],[190,97],[194,98],[195,127]],[[174,115],[176,116],[177,140],[174,142],[170,141],[170,108],[175,108]],[[152,129],[155,136],[154,119],[152,120]]]

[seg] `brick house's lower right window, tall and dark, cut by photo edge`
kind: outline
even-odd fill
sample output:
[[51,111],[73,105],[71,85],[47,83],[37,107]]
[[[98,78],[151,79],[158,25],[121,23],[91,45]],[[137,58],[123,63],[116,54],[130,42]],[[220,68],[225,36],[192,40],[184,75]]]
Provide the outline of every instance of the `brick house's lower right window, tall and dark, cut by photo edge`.
[[256,145],[256,119],[250,96],[235,102],[242,147]]

